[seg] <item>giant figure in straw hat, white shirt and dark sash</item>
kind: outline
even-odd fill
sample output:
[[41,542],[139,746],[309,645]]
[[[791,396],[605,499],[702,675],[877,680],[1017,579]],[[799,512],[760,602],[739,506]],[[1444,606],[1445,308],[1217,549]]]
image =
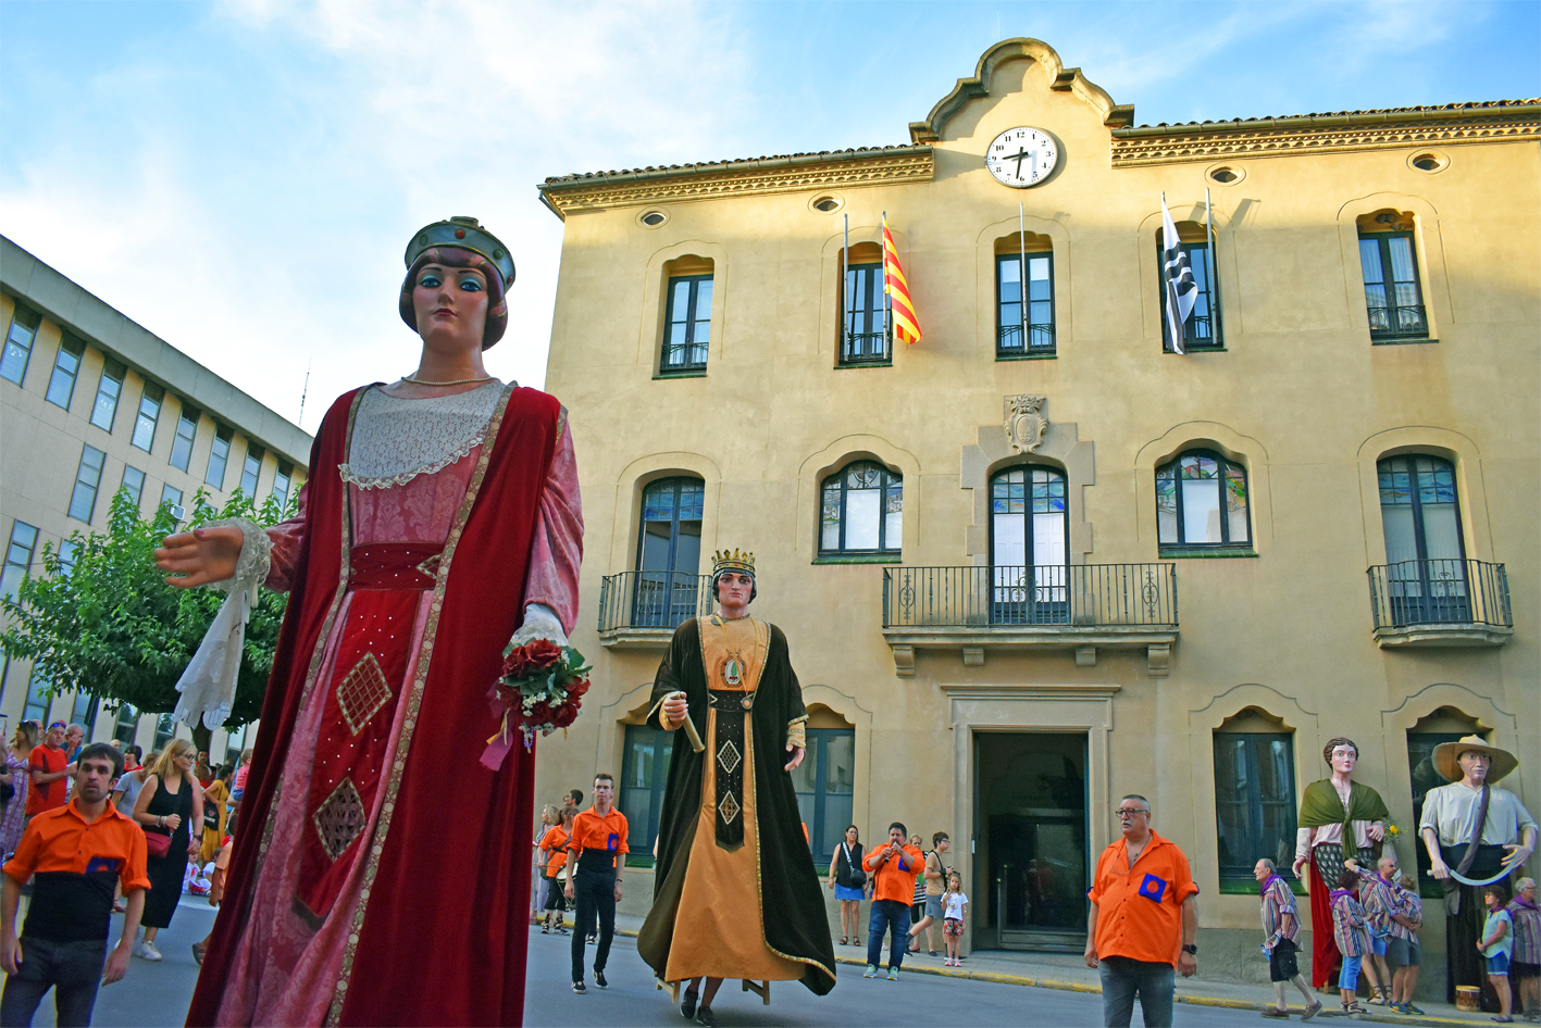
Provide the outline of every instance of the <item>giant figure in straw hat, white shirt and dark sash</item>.
[[1498,1010],[1476,950],[1482,931],[1482,886],[1510,877],[1536,848],[1536,822],[1519,797],[1493,785],[1519,766],[1515,754],[1479,736],[1435,746],[1435,769],[1450,783],[1429,789],[1418,834],[1429,871],[1445,893],[1445,997],[1456,985],[1482,988],[1482,1008]]

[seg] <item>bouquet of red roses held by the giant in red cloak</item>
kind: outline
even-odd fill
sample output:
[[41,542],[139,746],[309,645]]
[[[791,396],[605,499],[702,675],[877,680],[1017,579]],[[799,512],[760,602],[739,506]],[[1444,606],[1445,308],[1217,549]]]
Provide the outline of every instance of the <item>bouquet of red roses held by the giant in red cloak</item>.
[[482,753],[482,763],[493,771],[513,748],[512,728],[519,729],[529,749],[535,733],[550,736],[578,720],[582,694],[589,691],[589,665],[572,646],[536,639],[524,646],[509,643],[502,657],[502,673],[487,697],[492,713],[502,716],[502,726]]

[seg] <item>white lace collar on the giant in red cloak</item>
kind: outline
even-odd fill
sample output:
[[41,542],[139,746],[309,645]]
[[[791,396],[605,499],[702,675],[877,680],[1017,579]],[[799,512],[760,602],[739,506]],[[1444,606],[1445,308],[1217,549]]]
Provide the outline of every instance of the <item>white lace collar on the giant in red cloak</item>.
[[344,482],[361,489],[405,485],[464,459],[487,439],[487,425],[502,396],[493,379],[465,392],[402,399],[371,386],[353,420]]

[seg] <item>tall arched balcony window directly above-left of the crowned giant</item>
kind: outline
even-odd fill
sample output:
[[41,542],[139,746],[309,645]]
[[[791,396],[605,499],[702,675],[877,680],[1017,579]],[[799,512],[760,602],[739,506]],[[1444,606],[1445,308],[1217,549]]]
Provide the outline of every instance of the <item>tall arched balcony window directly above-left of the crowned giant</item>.
[[695,617],[704,502],[701,479],[660,479],[643,489],[633,626],[673,628]]

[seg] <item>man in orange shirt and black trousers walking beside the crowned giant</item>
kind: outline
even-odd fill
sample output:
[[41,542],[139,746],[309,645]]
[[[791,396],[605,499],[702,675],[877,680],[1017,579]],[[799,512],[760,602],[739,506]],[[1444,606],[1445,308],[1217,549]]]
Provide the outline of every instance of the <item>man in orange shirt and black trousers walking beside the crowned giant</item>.
[[573,834],[567,840],[567,899],[578,900],[573,919],[573,991],[582,996],[582,957],[595,916],[599,919],[599,940],[593,950],[593,983],[609,988],[604,965],[610,960],[615,939],[615,905],[621,902],[621,873],[626,868],[626,814],[610,806],[615,800],[615,779],[601,774],[593,780],[593,806],[573,819]]

